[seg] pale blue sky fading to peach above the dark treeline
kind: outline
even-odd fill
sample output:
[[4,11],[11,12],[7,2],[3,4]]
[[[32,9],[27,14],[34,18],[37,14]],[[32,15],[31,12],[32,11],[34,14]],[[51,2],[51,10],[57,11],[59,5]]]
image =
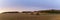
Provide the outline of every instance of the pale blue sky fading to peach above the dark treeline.
[[60,10],[60,0],[0,0],[0,12]]

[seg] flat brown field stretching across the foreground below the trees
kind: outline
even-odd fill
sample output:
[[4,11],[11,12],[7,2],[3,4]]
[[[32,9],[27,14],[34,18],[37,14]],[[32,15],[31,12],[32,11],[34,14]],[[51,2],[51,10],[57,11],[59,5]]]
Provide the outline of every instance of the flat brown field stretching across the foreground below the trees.
[[0,20],[60,20],[60,14],[30,15],[22,13],[0,14]]

